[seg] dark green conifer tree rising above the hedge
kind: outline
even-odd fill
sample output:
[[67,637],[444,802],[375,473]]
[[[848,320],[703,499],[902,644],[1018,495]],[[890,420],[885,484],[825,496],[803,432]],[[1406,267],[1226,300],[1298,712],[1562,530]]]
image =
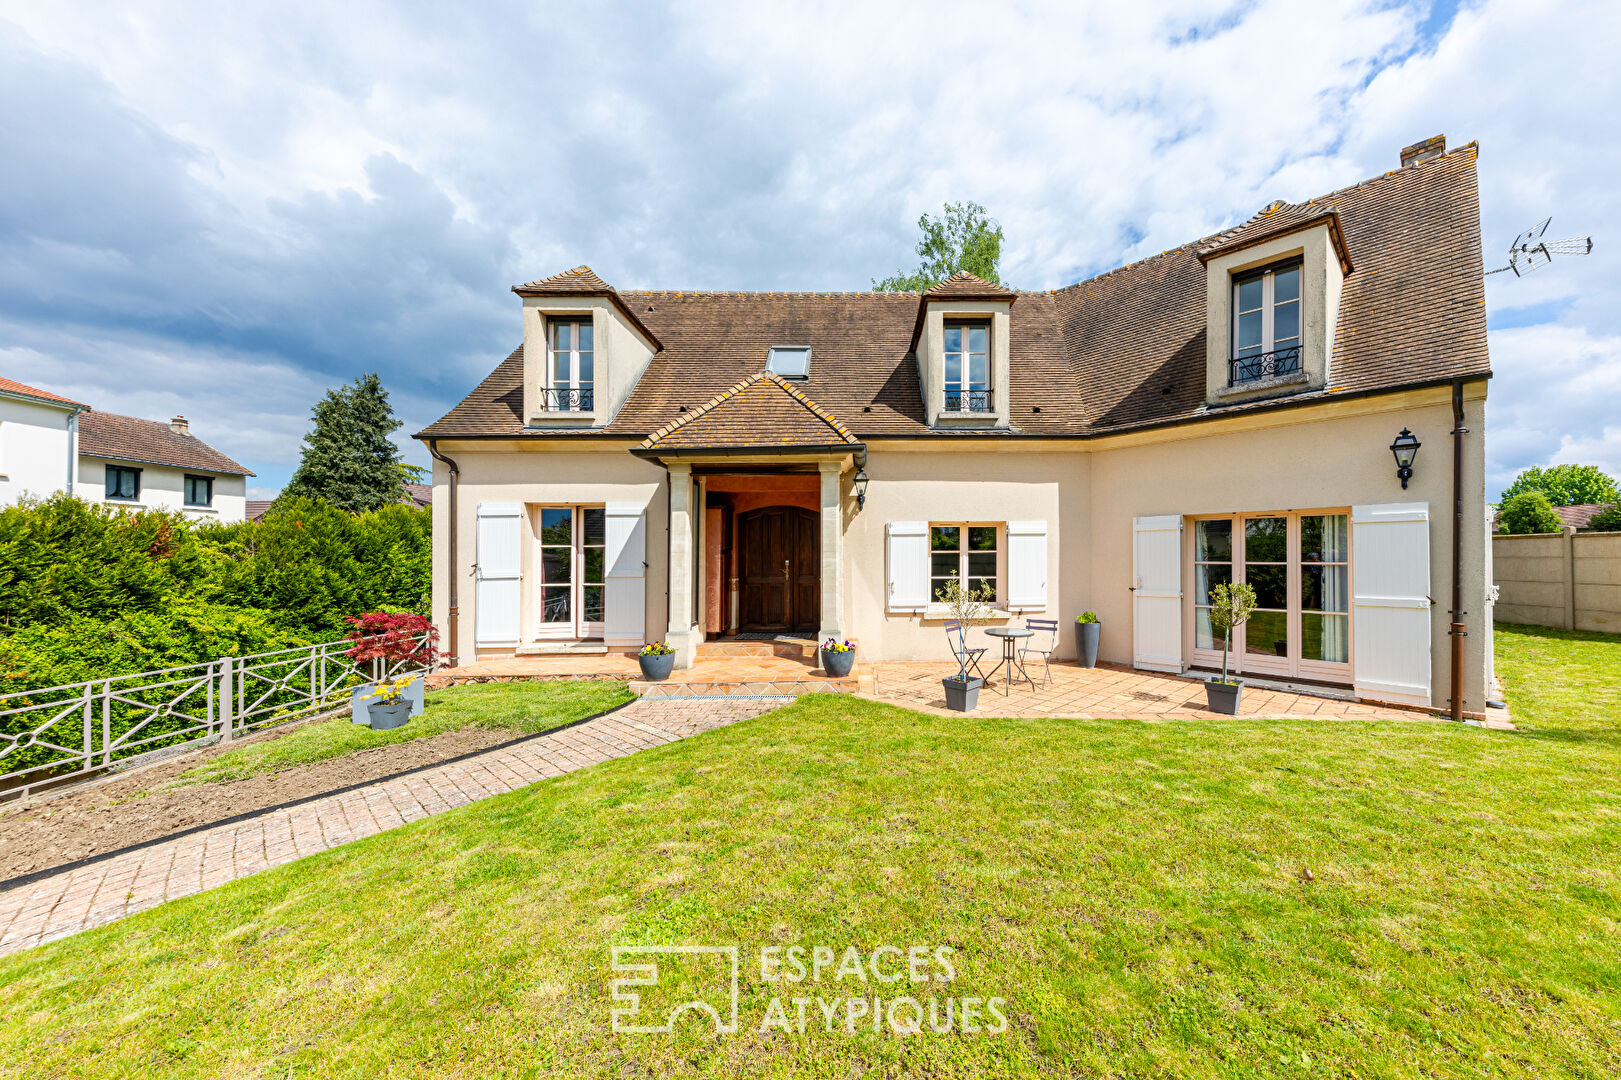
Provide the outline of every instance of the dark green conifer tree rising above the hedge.
[[400,426],[376,371],[329,389],[310,410],[298,470],[282,490],[326,499],[352,514],[374,511],[405,496],[400,451],[389,436]]

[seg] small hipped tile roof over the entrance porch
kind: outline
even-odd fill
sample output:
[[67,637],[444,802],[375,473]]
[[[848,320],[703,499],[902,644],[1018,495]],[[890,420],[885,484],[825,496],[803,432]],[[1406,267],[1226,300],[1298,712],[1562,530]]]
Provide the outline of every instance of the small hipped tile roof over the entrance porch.
[[653,431],[642,449],[859,446],[843,423],[775,371],[757,371]]

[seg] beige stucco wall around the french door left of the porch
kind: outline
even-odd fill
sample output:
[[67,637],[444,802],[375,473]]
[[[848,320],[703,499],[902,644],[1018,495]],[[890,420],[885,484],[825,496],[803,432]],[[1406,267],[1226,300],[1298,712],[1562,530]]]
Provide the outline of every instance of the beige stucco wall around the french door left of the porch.
[[[439,452],[460,467],[457,495],[457,594],[460,602],[459,649],[462,662],[477,658],[475,642],[475,592],[473,561],[478,550],[480,503],[640,503],[647,508],[647,605],[644,628],[648,637],[663,637],[669,624],[666,608],[668,521],[665,496],[665,470],[660,465],[634,457],[629,444],[584,452],[546,452],[519,449],[520,444],[503,444],[488,449],[488,443],[441,441]],[[433,464],[433,621],[441,639],[449,647],[449,535],[451,491],[449,469],[441,461]],[[528,514],[524,517],[524,563],[520,639],[535,639],[535,543]],[[511,652],[511,650],[507,650]],[[501,655],[494,652],[490,655]]]

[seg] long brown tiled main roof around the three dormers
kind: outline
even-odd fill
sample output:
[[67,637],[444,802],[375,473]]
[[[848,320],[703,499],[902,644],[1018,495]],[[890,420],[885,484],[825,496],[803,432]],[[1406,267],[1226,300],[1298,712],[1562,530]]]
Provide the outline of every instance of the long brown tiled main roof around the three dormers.
[[[1307,203],[1274,204],[1235,229],[1052,292],[1015,294],[961,276],[935,289],[986,289],[1016,298],[1008,319],[1012,435],[1106,435],[1485,378],[1491,368],[1475,156],[1470,143]],[[1341,294],[1329,386],[1211,409],[1201,256],[1318,221],[1337,222],[1342,256],[1355,253]],[[517,292],[567,295],[598,287],[660,342],[611,423],[525,428],[519,347],[420,436],[642,439],[676,422],[682,407],[691,410],[762,371],[767,350],[785,342],[814,349],[809,378],[794,386],[858,438],[1010,435],[927,425],[911,355],[921,294],[632,292],[613,290],[587,268]],[[948,297],[932,292],[927,298]]]

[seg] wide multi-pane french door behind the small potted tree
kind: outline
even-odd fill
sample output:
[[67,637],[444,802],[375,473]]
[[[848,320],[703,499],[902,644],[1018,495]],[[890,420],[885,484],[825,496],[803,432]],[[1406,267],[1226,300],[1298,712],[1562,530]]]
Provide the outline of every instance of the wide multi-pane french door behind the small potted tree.
[[1255,615],[1232,632],[1234,671],[1350,683],[1350,514],[1344,509],[1193,521],[1193,663],[1221,668],[1211,589],[1247,582]]

